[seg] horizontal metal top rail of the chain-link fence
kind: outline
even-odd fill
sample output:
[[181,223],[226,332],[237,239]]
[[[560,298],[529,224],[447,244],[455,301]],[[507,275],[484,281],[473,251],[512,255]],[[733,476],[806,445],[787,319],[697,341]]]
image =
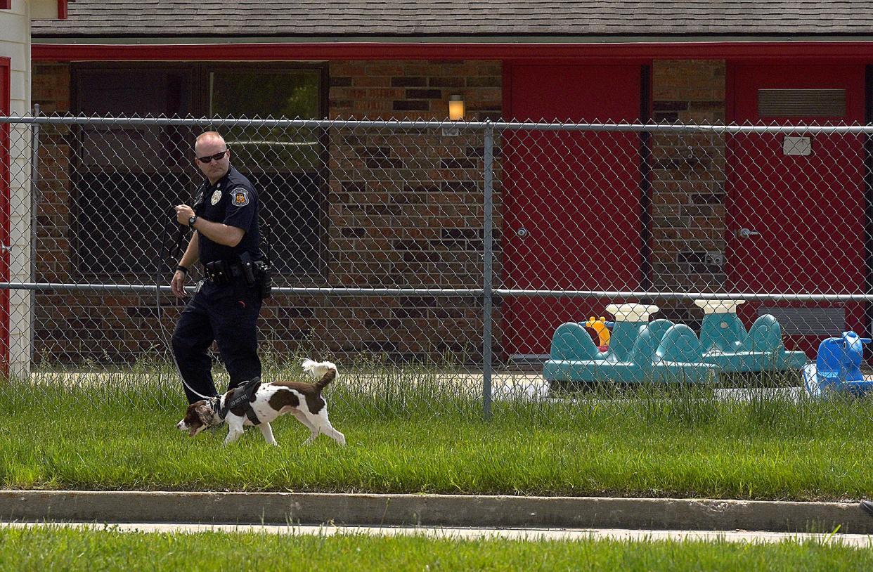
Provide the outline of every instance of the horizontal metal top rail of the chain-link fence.
[[405,121],[405,120],[290,120],[194,117],[100,117],[85,115],[0,115],[0,125],[79,125],[79,126],[153,126],[153,127],[284,127],[284,128],[390,128],[440,129],[457,127],[464,131],[593,131],[617,133],[808,133],[873,134],[873,124],[666,124],[666,123],[573,123],[533,121]]

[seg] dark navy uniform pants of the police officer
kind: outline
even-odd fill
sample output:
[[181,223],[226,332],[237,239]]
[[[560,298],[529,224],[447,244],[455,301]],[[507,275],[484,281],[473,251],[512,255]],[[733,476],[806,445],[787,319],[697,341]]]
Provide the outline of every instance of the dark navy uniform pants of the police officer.
[[[212,380],[209,348],[217,342],[224,367],[230,374],[228,389],[261,375],[258,358],[258,314],[261,311],[258,287],[234,284],[215,286],[207,280],[194,294],[173,332],[173,355],[191,388],[204,396],[216,396]],[[187,387],[189,403],[202,399]]]

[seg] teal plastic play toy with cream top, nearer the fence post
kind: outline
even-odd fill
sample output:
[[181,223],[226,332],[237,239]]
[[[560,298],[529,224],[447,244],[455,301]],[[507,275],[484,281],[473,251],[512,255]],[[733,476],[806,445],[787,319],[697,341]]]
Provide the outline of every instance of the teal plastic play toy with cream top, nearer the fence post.
[[649,321],[658,307],[610,304],[615,327],[606,351],[591,340],[583,324],[561,324],[543,366],[549,382],[705,382],[718,367],[703,362],[698,336],[684,324]]

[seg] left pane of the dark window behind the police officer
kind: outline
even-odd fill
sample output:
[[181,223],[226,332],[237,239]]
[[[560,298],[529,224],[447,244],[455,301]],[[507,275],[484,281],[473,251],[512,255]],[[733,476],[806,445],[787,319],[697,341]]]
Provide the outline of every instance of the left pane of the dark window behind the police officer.
[[[87,69],[78,111],[141,117],[191,113],[185,69]],[[178,127],[100,123],[76,131],[73,259],[80,274],[152,276],[173,204],[191,195],[191,134]]]

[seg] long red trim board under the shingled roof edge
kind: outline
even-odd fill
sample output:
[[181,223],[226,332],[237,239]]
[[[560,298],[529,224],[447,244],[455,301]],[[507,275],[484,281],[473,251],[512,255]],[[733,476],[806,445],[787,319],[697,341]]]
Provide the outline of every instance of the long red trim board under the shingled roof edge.
[[[0,0],[2,1],[2,0]],[[641,44],[39,44],[38,60],[267,59],[873,59],[873,42],[672,42]]]

